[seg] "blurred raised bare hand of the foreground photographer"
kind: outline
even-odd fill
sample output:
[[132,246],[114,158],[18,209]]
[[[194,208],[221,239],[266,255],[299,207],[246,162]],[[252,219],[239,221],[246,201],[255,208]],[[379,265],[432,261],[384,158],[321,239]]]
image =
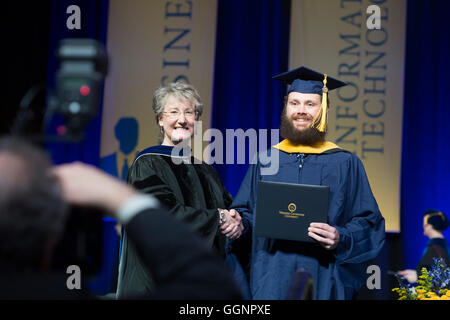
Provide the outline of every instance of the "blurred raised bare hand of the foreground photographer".
[[61,182],[65,199],[75,205],[95,206],[115,215],[137,194],[121,180],[81,162],[59,165],[52,171]]

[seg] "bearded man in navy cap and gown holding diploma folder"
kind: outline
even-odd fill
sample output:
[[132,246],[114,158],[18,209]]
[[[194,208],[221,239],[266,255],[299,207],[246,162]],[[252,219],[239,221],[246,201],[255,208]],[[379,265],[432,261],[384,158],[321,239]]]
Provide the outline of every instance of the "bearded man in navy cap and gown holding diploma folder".
[[[346,83],[305,67],[274,79],[290,84],[280,128],[284,140],[265,155],[278,156],[279,170],[264,175],[261,169],[270,164],[259,160],[250,166],[231,206],[242,215],[244,227],[231,248],[237,250],[252,237],[253,299],[292,298],[288,291],[301,269],[312,277],[314,299],[352,299],[367,279],[369,261],[383,247],[385,227],[361,160],[325,140],[328,90]],[[330,187],[328,222],[308,229],[315,243],[251,234],[260,180]]]

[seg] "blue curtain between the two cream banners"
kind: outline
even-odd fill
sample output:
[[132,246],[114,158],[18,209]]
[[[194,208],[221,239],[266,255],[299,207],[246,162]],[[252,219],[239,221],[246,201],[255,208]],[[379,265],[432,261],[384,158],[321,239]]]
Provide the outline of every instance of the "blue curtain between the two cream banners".
[[[288,70],[290,9],[290,0],[219,0],[211,127],[224,136],[279,128],[286,86],[271,78]],[[233,196],[248,168],[236,163],[216,165]]]

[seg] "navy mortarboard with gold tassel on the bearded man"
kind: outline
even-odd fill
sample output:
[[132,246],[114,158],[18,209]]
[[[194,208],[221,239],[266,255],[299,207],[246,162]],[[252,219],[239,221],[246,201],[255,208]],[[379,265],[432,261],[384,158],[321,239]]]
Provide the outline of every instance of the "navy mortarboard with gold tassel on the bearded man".
[[328,77],[327,74],[303,66],[273,76],[272,79],[289,84],[288,94],[291,92],[299,92],[315,93],[322,96],[321,112],[317,115],[312,124],[312,126],[316,127],[320,132],[325,132],[327,127],[328,91],[347,85],[347,83],[343,81]]

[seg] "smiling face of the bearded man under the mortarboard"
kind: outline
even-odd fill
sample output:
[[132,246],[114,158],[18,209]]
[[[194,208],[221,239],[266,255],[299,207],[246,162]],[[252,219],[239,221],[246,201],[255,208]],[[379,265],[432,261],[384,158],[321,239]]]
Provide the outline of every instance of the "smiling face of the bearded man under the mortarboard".
[[314,93],[291,92],[286,102],[286,117],[300,131],[311,127],[320,112],[322,98]]

